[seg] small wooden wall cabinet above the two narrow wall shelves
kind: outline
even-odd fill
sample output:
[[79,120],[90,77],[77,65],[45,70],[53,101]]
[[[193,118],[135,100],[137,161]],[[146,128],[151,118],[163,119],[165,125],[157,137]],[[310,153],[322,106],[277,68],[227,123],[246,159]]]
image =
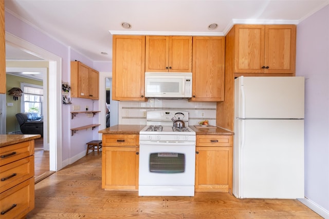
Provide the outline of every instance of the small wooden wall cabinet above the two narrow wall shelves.
[[81,62],[72,61],[71,97],[99,99],[99,72]]

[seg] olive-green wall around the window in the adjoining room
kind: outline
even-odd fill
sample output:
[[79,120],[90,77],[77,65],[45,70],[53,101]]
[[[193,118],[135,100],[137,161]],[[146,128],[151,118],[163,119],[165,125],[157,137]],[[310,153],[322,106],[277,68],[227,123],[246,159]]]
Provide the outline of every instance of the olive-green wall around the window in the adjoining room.
[[[21,88],[21,83],[28,83],[28,84],[34,84],[34,85],[43,85],[43,82],[33,80],[30,78],[25,78],[25,77],[19,77],[11,74],[6,75],[6,90],[10,90],[13,87],[18,87]],[[6,95],[6,133],[12,132],[12,131],[20,131],[20,126],[17,123],[16,120],[16,113],[21,112],[21,100],[22,98],[19,97],[17,101],[14,101],[12,95]],[[8,106],[8,103],[12,104],[13,106]]]

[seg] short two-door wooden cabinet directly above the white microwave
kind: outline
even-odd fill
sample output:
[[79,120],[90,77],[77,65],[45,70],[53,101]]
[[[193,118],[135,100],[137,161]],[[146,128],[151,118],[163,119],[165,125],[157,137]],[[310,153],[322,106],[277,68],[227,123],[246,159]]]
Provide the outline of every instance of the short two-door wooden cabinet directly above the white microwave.
[[146,36],[145,71],[191,72],[192,36]]

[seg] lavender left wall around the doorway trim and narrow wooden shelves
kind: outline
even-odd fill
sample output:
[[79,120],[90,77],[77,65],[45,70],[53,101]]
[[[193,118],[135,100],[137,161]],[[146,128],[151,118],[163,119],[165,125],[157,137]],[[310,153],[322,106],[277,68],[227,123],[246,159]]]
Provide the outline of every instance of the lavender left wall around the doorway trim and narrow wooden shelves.
[[[31,43],[35,46],[38,46],[44,50],[47,50],[59,57],[61,57],[61,71],[62,71],[62,81],[70,82],[70,61],[72,60],[80,60],[84,62],[86,65],[93,67],[98,71],[108,71],[106,65],[104,63],[99,64],[102,68],[94,67],[93,61],[86,58],[83,54],[80,54],[74,50],[72,50],[69,46],[61,44],[55,38],[47,35],[42,30],[36,29],[35,27],[30,26],[29,24],[23,22],[20,18],[10,14],[9,12],[5,12],[5,22],[6,22],[6,32],[12,34],[16,37],[23,39],[24,41]],[[110,64],[109,64],[110,65]],[[51,82],[49,82],[51,83]],[[60,95],[60,94],[59,94]],[[53,100],[49,100],[53,101]],[[76,98],[72,100],[74,104],[84,106],[86,104],[86,100],[82,98]],[[90,102],[88,102],[90,104]],[[74,136],[71,136],[70,128],[74,128],[78,120],[77,118],[73,121],[71,120],[70,111],[72,105],[63,105],[61,113],[58,112],[58,115],[61,114],[62,121],[62,133],[61,137],[58,136],[56,139],[59,142],[56,143],[56,147],[61,147],[62,151],[62,163],[63,166],[71,164],[77,161],[79,158],[85,155],[86,150],[86,141],[93,140],[93,138],[98,138],[97,130],[93,130],[93,132],[85,132],[83,130],[79,131]],[[98,106],[96,104],[95,106]],[[97,109],[97,108],[95,108]],[[93,121],[97,121],[98,117],[95,116]],[[71,124],[72,122],[72,124]],[[53,133],[49,133],[50,135]],[[95,138],[95,139],[97,139]],[[55,139],[55,137],[53,138]],[[55,154],[54,154],[55,156]],[[60,165],[62,166],[62,165]]]

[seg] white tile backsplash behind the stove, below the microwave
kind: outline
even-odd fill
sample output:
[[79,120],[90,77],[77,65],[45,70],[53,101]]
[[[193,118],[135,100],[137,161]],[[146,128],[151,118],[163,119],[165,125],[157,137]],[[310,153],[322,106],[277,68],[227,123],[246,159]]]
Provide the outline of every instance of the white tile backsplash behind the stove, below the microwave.
[[119,102],[119,124],[146,125],[148,110],[182,110],[189,112],[189,126],[208,120],[209,125],[216,125],[216,103],[189,102],[174,99],[149,99],[148,102]]

